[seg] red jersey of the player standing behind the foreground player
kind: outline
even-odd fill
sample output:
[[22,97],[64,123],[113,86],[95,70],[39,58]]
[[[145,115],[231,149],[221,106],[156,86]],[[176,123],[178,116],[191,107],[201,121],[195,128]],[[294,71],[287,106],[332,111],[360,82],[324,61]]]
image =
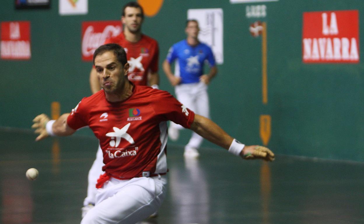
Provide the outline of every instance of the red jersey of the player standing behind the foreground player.
[[104,44],[119,44],[125,49],[130,65],[128,79],[135,85],[147,85],[148,72],[158,71],[159,47],[153,38],[142,34],[142,38],[135,43],[125,39],[124,33],[111,37]]

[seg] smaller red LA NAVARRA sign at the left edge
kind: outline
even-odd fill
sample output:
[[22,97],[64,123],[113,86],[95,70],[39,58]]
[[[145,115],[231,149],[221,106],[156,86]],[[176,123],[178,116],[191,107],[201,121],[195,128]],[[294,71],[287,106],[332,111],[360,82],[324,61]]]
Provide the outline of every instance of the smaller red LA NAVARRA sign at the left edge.
[[1,22],[1,59],[29,60],[30,22]]

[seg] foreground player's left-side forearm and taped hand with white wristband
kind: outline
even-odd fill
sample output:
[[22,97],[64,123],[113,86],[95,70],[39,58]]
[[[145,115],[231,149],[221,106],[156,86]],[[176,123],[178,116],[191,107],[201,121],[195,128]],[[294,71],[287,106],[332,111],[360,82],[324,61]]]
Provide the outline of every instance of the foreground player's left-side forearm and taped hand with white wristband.
[[57,120],[50,120],[46,114],[40,114],[33,119],[32,129],[39,134],[36,141],[47,138],[50,135],[66,136],[72,135],[76,130],[67,125],[69,113],[62,114]]

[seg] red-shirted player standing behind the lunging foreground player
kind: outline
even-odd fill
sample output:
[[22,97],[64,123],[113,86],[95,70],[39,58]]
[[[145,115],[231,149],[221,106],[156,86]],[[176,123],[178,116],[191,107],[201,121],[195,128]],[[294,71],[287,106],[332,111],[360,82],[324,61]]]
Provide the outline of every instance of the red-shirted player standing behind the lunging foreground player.
[[[123,46],[127,53],[130,65],[128,79],[135,85],[149,85],[158,89],[158,42],[142,33],[144,13],[142,7],[131,1],[123,6],[121,21],[123,32],[116,37],[111,37],[104,44],[116,43]],[[90,72],[90,87],[92,93],[101,89],[95,67]],[[87,197],[83,201],[82,217],[95,204],[95,184],[100,176],[103,166],[101,148],[98,148],[96,159],[88,172]],[[154,214],[155,216],[156,214]]]

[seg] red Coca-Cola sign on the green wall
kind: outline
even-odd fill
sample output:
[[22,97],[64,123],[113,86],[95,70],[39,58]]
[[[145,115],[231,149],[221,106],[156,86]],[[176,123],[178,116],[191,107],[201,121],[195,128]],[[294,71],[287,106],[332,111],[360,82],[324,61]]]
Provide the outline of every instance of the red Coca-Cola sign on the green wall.
[[121,32],[120,20],[82,22],[82,60],[92,61],[96,48]]

